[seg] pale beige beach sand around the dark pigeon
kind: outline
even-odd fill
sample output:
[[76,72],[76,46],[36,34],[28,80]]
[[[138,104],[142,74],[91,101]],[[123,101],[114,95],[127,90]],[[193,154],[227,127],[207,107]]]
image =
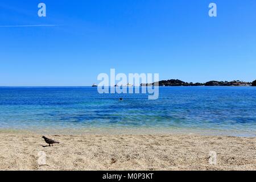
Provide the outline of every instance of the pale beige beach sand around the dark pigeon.
[[[256,138],[0,133],[1,170],[256,170]],[[209,164],[209,152],[217,164]],[[46,154],[46,163],[42,162]],[[38,159],[40,160],[38,161]],[[39,165],[40,164],[40,165]]]

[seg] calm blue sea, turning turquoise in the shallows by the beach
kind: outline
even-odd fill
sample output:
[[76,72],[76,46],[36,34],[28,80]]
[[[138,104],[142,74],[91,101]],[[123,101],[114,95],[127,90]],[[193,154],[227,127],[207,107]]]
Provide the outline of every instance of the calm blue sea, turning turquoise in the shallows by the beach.
[[256,88],[165,87],[159,93],[147,100],[91,87],[0,88],[0,129],[256,136]]

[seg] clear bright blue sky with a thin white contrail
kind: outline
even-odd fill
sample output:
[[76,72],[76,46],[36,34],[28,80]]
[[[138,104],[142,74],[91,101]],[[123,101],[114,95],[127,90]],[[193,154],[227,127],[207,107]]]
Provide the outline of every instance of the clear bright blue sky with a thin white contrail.
[[0,86],[88,86],[112,68],[253,81],[255,32],[255,0],[1,0]]

